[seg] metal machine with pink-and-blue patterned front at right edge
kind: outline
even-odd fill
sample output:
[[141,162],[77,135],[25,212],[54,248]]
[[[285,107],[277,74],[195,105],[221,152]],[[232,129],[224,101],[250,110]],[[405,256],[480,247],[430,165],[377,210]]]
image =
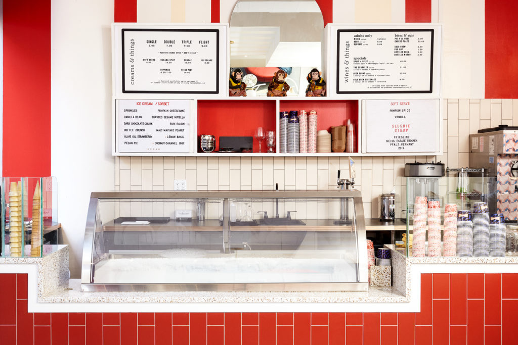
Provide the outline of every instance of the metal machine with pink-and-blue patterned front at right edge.
[[469,167],[487,171],[490,213],[518,219],[518,127],[500,125],[469,135]]

